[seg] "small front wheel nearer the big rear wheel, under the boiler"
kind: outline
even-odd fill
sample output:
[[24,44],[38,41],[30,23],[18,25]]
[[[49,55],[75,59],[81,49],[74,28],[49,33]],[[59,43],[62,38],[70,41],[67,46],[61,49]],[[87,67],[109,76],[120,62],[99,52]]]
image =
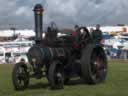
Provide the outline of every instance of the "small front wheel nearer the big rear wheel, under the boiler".
[[64,86],[64,67],[59,61],[53,61],[48,70],[51,89],[62,89]]

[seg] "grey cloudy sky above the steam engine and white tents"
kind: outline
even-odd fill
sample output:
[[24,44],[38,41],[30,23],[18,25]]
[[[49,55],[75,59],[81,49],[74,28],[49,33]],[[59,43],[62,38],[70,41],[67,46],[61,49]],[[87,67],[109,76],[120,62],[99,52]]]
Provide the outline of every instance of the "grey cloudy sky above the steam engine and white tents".
[[33,28],[36,3],[44,5],[45,25],[128,24],[128,0],[0,0],[0,28]]

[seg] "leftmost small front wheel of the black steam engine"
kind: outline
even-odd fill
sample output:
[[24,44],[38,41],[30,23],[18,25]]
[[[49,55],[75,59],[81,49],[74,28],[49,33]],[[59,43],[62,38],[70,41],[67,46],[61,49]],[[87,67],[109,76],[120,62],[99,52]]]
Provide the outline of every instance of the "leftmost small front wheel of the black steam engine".
[[29,72],[27,66],[20,62],[14,65],[12,82],[15,90],[24,90],[29,85]]

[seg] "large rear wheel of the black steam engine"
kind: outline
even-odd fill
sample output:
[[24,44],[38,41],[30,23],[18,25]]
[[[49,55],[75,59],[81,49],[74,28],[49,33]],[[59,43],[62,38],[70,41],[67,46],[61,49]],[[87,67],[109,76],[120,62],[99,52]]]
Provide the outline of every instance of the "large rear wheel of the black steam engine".
[[81,70],[88,84],[103,82],[107,75],[107,58],[102,47],[89,44],[83,50]]

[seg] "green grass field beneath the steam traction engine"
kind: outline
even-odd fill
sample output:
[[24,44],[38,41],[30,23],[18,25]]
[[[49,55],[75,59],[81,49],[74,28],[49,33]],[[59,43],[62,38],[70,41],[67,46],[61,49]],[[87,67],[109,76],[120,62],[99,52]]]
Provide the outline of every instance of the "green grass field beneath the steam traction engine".
[[32,79],[28,89],[15,91],[13,65],[0,65],[0,96],[128,96],[128,62],[111,61],[106,82],[98,85],[74,83],[63,90],[50,90],[46,79]]

